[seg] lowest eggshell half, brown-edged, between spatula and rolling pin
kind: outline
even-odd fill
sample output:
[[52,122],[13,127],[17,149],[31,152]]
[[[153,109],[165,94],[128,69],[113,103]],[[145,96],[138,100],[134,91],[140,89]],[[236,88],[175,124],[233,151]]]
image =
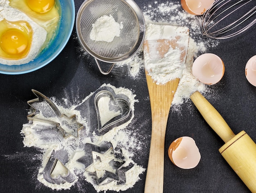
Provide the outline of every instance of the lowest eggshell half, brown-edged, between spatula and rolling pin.
[[195,141],[191,137],[180,137],[171,143],[168,149],[170,160],[177,167],[191,169],[198,165],[201,155]]

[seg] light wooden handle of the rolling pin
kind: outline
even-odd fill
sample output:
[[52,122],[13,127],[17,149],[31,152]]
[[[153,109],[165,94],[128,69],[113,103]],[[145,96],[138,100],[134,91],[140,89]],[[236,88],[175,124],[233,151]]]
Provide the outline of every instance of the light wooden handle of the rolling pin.
[[219,112],[207,101],[207,99],[196,91],[190,96],[191,100],[204,117],[205,121],[211,126],[211,128],[227,143],[235,134],[227,125],[226,121],[222,118]]

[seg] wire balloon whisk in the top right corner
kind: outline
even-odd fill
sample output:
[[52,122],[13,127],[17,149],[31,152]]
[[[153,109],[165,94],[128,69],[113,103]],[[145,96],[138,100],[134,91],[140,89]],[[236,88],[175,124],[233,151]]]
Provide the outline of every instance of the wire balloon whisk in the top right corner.
[[203,36],[234,37],[256,23],[256,0],[216,0],[202,18]]

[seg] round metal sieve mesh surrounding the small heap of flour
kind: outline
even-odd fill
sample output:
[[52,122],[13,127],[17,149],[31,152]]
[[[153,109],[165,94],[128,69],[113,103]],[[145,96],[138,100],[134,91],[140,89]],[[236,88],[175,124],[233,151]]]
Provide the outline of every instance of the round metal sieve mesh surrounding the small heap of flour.
[[[112,42],[93,41],[90,39],[92,24],[103,15],[112,15],[117,23],[123,24],[120,36]],[[133,52],[140,39],[140,24],[137,15],[123,0],[91,0],[81,10],[81,36],[86,50],[94,57],[116,59],[126,57]]]

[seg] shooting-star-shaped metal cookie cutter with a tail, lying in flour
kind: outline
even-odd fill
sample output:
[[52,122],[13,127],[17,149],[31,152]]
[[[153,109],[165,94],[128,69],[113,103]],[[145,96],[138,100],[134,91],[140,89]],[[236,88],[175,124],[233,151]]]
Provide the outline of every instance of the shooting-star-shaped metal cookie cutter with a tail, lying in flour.
[[[34,110],[33,113],[27,116],[29,121],[39,121],[56,125],[56,127],[63,133],[64,138],[69,136],[78,137],[78,131],[84,126],[76,121],[75,114],[72,116],[61,114],[58,107],[56,107],[56,105],[47,96],[33,89],[32,92],[37,96],[37,98],[27,101],[28,105]],[[38,103],[40,102],[45,102],[45,104],[39,105]],[[45,119],[35,117],[39,112],[43,114]],[[53,117],[57,118],[58,122],[49,120],[49,118]]]

